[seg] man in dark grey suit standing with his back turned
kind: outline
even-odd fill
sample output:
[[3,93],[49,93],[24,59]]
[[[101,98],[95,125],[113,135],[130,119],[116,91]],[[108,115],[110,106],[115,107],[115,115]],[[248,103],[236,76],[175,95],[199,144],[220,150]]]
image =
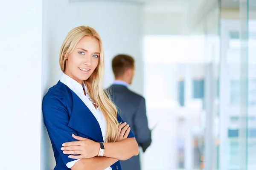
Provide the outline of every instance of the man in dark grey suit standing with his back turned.
[[[124,121],[133,130],[139,146],[145,152],[151,144],[145,98],[128,89],[134,77],[134,59],[131,56],[119,54],[112,59],[112,70],[115,82],[108,88],[110,97]],[[120,163],[122,170],[140,170],[139,155],[120,161]]]

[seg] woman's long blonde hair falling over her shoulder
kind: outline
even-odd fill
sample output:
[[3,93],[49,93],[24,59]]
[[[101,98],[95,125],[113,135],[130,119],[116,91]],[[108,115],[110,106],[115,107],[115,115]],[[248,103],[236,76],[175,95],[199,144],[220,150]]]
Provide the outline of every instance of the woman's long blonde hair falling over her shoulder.
[[108,98],[103,90],[103,75],[104,75],[104,53],[102,47],[102,40],[99,37],[99,34],[88,26],[79,26],[73,28],[65,38],[60,51],[59,62],[61,66],[61,71],[65,71],[65,62],[66,57],[73,51],[76,47],[76,44],[84,36],[89,36],[99,40],[100,45],[100,55],[99,55],[99,64],[96,69],[93,71],[92,75],[84,81],[88,94],[90,98],[96,102],[96,105],[102,111],[106,123],[106,140],[107,142],[115,142],[118,136],[119,124],[117,122],[117,110],[116,106],[113,104],[111,99]]

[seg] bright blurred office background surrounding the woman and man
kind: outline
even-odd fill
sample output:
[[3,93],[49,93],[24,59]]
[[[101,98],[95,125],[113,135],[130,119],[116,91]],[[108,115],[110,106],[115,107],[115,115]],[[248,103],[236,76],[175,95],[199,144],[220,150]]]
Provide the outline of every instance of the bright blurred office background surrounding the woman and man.
[[142,170],[256,170],[256,0],[0,1],[3,169],[55,166],[41,99],[81,25],[102,38],[105,88],[112,57],[135,58],[154,127]]

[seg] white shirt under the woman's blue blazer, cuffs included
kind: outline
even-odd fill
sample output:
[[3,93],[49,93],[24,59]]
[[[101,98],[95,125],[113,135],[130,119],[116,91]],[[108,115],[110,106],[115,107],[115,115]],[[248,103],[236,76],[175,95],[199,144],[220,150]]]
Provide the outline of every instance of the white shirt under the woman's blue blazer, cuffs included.
[[[87,106],[87,108],[90,109],[90,111],[93,113],[93,116],[97,119],[99,122],[100,129],[102,131],[102,137],[105,141],[105,134],[106,134],[106,119],[103,115],[103,113],[99,110],[99,108],[95,108],[93,106],[93,102],[90,99],[90,96],[87,93],[87,88],[83,82],[83,85],[81,85],[79,82],[76,82],[76,80],[72,79],[71,77],[67,76],[66,74],[63,74],[60,80],[64,85],[67,85],[79,98],[84,102],[84,104]],[[84,95],[84,90],[85,94]],[[71,142],[71,141],[70,141]],[[77,159],[75,161],[70,161],[66,164],[68,168],[71,168],[74,166],[74,164],[79,161],[80,159]],[[112,170],[111,167],[106,168],[105,170]]]

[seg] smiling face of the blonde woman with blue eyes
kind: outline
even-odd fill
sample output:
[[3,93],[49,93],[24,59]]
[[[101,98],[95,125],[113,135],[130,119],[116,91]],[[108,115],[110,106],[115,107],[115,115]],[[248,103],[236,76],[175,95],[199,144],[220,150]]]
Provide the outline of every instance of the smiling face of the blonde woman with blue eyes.
[[80,84],[87,80],[99,63],[100,46],[96,38],[85,36],[67,56],[64,73]]

